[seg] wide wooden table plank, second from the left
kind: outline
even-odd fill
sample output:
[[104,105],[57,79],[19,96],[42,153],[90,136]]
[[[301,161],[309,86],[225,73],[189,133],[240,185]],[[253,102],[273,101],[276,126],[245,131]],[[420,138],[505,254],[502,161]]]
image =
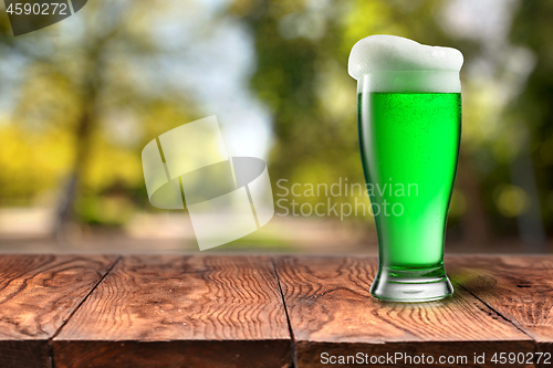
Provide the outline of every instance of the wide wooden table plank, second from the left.
[[53,339],[64,367],[289,367],[267,256],[125,256]]

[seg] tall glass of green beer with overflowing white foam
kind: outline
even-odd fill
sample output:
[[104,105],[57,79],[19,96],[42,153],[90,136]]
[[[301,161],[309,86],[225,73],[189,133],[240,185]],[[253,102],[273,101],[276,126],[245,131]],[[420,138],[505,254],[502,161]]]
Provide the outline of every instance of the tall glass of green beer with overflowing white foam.
[[444,267],[447,213],[461,137],[462,54],[373,35],[355,44],[363,170],[378,235],[371,293],[429,302],[453,293]]

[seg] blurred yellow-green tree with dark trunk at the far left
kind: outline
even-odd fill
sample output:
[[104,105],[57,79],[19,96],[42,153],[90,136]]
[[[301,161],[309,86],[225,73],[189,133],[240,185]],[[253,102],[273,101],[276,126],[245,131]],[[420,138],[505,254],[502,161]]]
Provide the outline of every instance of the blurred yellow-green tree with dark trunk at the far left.
[[144,67],[165,52],[147,15],[164,8],[163,1],[88,2],[63,35],[60,23],[13,38],[0,18],[0,48],[21,65],[13,123],[0,126],[8,138],[0,162],[13,165],[0,174],[9,189],[0,197],[30,200],[63,182],[54,229],[61,241],[75,203],[82,219],[114,223],[114,213],[123,213],[116,207],[125,204],[103,206],[98,196],[139,189],[144,202],[142,147],[197,117],[194,102],[144,77]]

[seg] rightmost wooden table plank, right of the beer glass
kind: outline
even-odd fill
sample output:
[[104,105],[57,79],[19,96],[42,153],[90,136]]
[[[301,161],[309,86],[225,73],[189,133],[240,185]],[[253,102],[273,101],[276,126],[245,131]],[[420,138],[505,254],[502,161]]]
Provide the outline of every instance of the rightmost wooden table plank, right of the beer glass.
[[456,256],[450,264],[458,283],[553,355],[552,255]]

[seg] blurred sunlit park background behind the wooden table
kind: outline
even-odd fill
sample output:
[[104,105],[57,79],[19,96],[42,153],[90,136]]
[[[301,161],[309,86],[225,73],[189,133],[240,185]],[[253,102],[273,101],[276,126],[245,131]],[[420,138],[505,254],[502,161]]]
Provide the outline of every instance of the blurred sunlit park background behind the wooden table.
[[368,204],[305,190],[364,181],[347,57],[395,34],[465,55],[447,252],[553,252],[552,19],[549,1],[94,0],[14,38],[1,9],[0,251],[198,251],[186,211],[149,204],[140,151],[217,115],[282,201],[212,251],[376,253],[369,215],[299,209]]

